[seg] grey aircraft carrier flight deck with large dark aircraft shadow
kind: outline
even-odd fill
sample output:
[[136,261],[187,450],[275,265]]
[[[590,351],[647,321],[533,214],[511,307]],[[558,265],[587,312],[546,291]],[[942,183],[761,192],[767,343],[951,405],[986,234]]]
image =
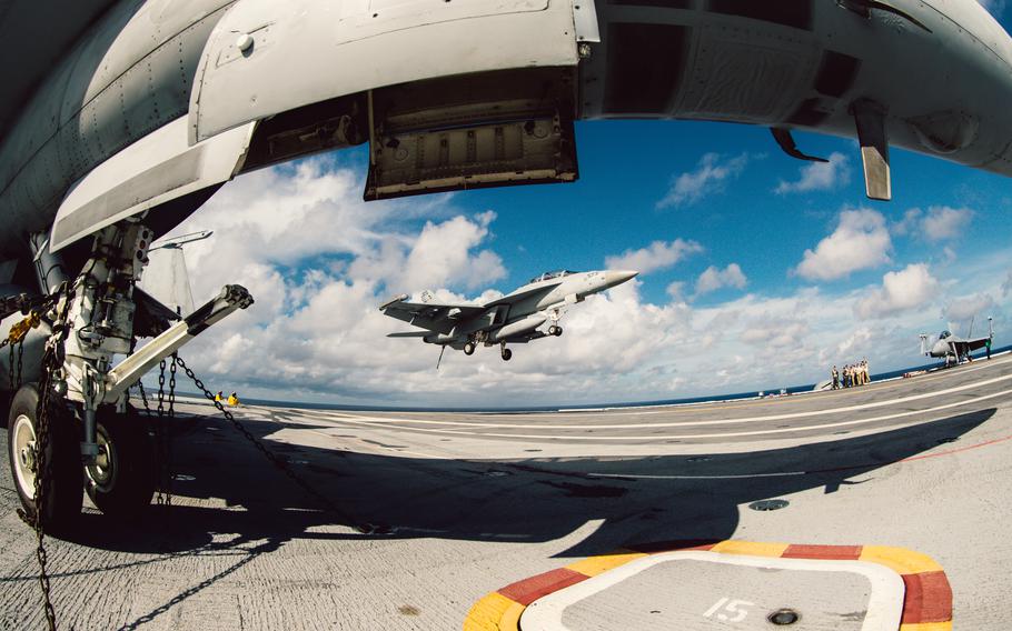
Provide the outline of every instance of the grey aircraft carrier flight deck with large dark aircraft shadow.
[[[53,602],[68,629],[460,629],[489,595],[565,570],[586,579],[567,585],[608,584],[589,595],[528,590],[520,609],[556,599],[574,629],[656,628],[644,620],[675,610],[671,628],[714,628],[718,615],[728,620],[716,628],[756,628],[778,598],[802,610],[795,629],[820,628],[823,609],[871,611],[873,579],[859,565],[826,570],[839,574],[831,583],[807,575],[812,565],[677,557],[679,542],[696,541],[711,548],[695,553],[728,559],[758,545],[752,555],[767,564],[791,547],[849,547],[856,557],[836,562],[865,564],[887,557],[874,551],[906,551],[936,564],[926,573],[944,570],[955,629],[1005,629],[1010,407],[1012,359],[995,358],[854,390],[674,408],[238,409],[341,519],[212,408],[185,403],[172,505],[135,522],[86,508],[77,532],[47,539]],[[0,628],[42,628],[34,535],[14,513],[6,467],[0,488]],[[363,534],[349,521],[383,528]],[[659,560],[633,572],[642,559]],[[892,585],[882,593],[895,608]],[[734,600],[755,603],[741,625]]]

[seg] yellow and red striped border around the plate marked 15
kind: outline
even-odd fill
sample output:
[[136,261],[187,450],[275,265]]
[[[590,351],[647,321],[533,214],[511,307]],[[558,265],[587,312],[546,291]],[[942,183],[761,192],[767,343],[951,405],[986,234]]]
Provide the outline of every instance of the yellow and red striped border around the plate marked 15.
[[884,545],[804,545],[751,541],[666,542],[616,550],[591,557],[508,584],[476,602],[464,621],[464,631],[518,631],[520,615],[534,601],[613,570],[662,552],[707,551],[781,559],[864,561],[893,570],[903,579],[903,617],[899,631],[951,631],[952,588],[942,567],[931,557]]

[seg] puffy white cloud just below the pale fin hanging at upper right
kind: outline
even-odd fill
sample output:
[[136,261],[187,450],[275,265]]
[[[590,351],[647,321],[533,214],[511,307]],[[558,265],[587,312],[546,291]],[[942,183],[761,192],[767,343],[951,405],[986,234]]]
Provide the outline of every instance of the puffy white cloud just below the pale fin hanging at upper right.
[[844,210],[832,234],[815,250],[805,250],[794,272],[807,280],[835,280],[890,262],[892,240],[882,213],[871,209]]

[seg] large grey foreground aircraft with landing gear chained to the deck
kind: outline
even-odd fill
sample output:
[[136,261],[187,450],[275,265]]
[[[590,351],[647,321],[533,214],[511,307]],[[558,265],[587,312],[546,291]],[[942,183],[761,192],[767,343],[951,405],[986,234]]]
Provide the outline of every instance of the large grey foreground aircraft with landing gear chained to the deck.
[[[574,121],[659,118],[765,126],[800,159],[794,129],[856,138],[875,199],[890,146],[1012,174],[1012,40],[975,0],[10,0],[0,33],[9,457],[50,524],[79,458],[103,511],[150,499],[130,385],[251,298],[178,321],[136,284],[239,173],[368,142],[366,199],[567,182]],[[33,503],[40,397],[73,413]]]

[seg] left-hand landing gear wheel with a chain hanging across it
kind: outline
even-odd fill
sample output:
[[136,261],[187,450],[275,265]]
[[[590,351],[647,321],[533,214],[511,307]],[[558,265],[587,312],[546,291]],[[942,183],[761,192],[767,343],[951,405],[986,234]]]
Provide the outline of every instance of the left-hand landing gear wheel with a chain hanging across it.
[[[38,409],[38,385],[27,383],[14,393],[7,421],[10,470],[21,508],[29,519],[34,519],[36,515]],[[46,484],[40,510],[46,531],[60,532],[71,528],[81,514],[85,488],[80,430],[76,420],[57,405],[50,409],[47,424],[49,440],[41,460],[43,470],[49,471],[49,482]]]

